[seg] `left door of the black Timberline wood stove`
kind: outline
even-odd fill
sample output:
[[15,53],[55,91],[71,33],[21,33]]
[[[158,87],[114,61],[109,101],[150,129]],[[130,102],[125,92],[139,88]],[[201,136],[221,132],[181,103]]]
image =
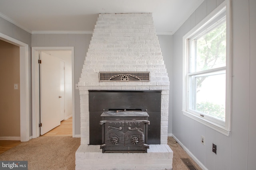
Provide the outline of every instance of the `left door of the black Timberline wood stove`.
[[107,147],[124,147],[125,121],[105,123],[105,144]]

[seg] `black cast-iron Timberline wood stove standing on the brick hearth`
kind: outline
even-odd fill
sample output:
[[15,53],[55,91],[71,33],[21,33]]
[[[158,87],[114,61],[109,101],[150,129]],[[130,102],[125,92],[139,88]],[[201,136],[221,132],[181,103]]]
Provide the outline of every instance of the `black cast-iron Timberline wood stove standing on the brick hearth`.
[[147,152],[148,116],[144,111],[104,111],[102,153]]

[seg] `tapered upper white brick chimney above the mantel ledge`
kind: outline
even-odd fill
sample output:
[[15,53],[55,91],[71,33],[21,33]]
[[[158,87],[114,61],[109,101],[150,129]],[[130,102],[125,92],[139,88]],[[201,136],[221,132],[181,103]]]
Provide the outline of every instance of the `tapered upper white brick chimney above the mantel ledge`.
[[96,74],[102,71],[148,71],[150,82],[135,85],[169,85],[151,13],[99,14],[79,86],[120,85],[99,82]]

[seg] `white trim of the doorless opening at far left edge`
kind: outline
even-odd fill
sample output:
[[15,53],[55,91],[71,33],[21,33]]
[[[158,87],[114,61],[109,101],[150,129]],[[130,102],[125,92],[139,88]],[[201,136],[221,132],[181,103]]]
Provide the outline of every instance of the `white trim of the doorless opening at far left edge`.
[[20,47],[20,141],[30,139],[28,44],[0,33],[0,39]]

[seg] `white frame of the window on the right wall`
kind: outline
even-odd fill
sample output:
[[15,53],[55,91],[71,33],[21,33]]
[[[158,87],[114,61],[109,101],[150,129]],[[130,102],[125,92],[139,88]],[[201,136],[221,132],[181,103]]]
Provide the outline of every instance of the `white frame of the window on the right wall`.
[[[208,116],[200,115],[200,113],[189,109],[189,48],[188,41],[195,34],[204,31],[203,27],[212,23],[214,19],[218,18],[219,14],[226,10],[226,66],[223,68],[217,68],[219,70],[226,70],[226,111],[225,121],[212,119]],[[231,126],[231,92],[232,92],[232,65],[231,65],[231,12],[230,12],[230,0],[225,0],[220,6],[218,6],[213,12],[211,12],[206,18],[198,23],[193,29],[191,29],[183,37],[183,114],[226,135],[229,136]],[[212,69],[214,70],[214,69]],[[202,71],[204,73],[204,71]]]

